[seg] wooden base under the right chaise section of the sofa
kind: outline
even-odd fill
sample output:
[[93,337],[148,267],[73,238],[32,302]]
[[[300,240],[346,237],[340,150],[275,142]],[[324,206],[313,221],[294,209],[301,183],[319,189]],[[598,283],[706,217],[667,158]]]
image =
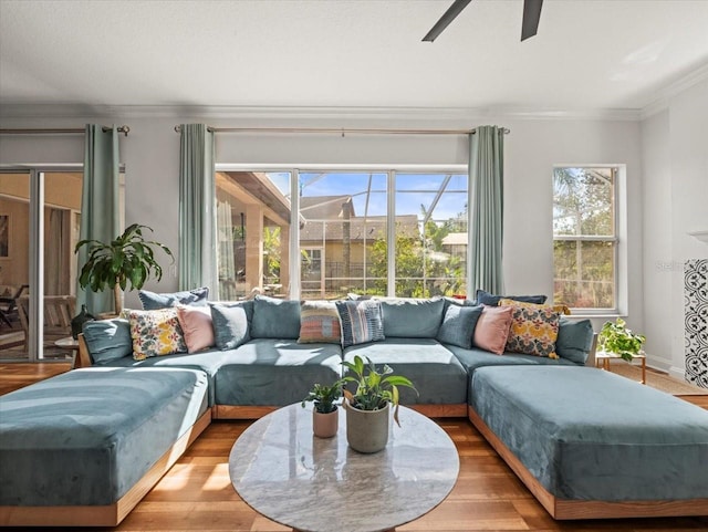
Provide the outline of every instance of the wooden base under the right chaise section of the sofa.
[[521,460],[509,450],[471,407],[468,407],[468,417],[553,519],[665,518],[708,514],[708,499],[622,502],[558,499],[531,474]]

